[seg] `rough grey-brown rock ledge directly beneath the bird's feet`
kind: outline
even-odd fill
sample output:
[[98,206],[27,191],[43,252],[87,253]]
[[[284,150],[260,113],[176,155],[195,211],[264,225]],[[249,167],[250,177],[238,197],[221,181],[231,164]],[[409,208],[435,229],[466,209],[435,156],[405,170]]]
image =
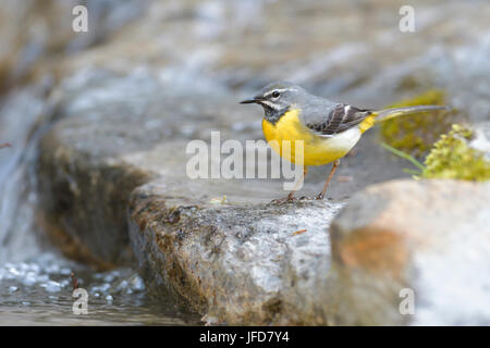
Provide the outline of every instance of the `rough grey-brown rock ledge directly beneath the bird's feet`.
[[149,288],[210,323],[328,323],[328,228],[342,203],[211,207],[172,197],[151,183],[130,202],[133,250]]

